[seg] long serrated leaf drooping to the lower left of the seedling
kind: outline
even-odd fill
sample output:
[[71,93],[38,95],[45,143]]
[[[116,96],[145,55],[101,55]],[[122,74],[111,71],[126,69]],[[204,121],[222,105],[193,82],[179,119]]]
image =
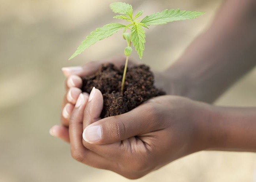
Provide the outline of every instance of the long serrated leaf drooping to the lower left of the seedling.
[[75,56],[81,54],[84,50],[95,44],[97,41],[112,36],[114,33],[118,32],[124,27],[125,25],[119,23],[110,23],[104,25],[101,28],[97,28],[86,37],[86,39],[82,42],[82,44],[77,48],[75,53],[68,60],[75,58]]

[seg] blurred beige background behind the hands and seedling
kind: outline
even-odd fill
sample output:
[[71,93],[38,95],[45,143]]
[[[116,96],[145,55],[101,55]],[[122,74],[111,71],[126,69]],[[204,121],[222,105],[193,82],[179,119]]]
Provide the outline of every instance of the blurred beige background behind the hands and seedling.
[[[114,0],[0,1],[0,182],[123,182],[110,171],[93,169],[71,158],[69,145],[49,135],[60,120],[64,94],[61,67],[122,54],[121,33],[99,42],[72,61],[69,56],[97,27],[115,22]],[[174,62],[211,23],[221,0],[125,0],[144,15],[166,8],[205,11],[196,20],[147,31],[142,62],[161,70]],[[133,59],[138,59],[136,54]],[[242,60],[241,60],[242,64]],[[256,70],[217,102],[256,105]],[[179,159],[139,182],[256,181],[253,153],[200,152]],[[254,181],[254,182],[255,182]]]

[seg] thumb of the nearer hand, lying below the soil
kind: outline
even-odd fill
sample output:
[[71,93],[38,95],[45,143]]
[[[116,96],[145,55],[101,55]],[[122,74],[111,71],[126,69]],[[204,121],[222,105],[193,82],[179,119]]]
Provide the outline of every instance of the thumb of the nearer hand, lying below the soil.
[[143,104],[125,114],[98,120],[85,128],[83,139],[91,144],[109,144],[162,130],[161,115],[157,112],[152,103]]

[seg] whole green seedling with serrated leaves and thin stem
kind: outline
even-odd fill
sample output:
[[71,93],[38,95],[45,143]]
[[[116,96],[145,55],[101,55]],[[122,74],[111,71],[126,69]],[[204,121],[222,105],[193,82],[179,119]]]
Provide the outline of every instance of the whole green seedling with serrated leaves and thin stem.
[[[99,40],[103,40],[107,37],[112,36],[121,29],[123,31],[123,38],[127,41],[127,47],[125,47],[124,54],[126,56],[123,80],[121,84],[121,92],[124,89],[125,75],[127,71],[127,64],[129,56],[132,52],[131,44],[137,51],[140,59],[142,59],[143,51],[145,49],[145,31],[144,28],[149,29],[150,25],[163,25],[172,21],[179,20],[189,20],[195,19],[204,14],[204,12],[196,11],[180,11],[180,9],[165,9],[162,12],[154,13],[152,15],[144,17],[142,20],[138,19],[142,16],[143,11],[137,12],[133,15],[132,5],[122,2],[110,4],[110,8],[114,13],[119,13],[120,15],[114,16],[113,18],[125,20],[128,25],[123,25],[119,23],[106,24],[101,28],[97,28],[95,31],[91,32],[89,36],[82,42],[82,44],[77,48],[75,53],[69,58],[73,59],[75,56],[81,54],[84,50],[95,44]],[[141,20],[141,21],[140,21]],[[129,30],[130,32],[127,32]],[[126,33],[127,32],[127,33]]]

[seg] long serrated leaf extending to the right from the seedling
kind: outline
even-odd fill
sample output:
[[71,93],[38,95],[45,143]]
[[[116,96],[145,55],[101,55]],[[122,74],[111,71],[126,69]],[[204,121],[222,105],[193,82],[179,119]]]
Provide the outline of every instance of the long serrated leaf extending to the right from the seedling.
[[163,25],[172,21],[195,19],[205,12],[196,11],[180,11],[180,9],[165,9],[162,12],[154,13],[146,16],[140,23],[145,25]]

